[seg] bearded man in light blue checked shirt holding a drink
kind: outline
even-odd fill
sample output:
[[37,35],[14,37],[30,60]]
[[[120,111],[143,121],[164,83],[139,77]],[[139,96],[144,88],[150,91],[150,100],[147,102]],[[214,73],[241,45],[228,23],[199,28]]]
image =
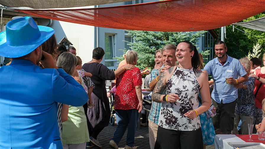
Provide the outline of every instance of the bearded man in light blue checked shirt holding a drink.
[[230,134],[234,127],[237,99],[234,85],[247,81],[248,76],[239,60],[226,54],[227,47],[223,41],[217,41],[214,48],[217,57],[204,67],[214,80],[211,98],[216,108],[216,116],[212,120],[216,131],[220,131],[216,134]]

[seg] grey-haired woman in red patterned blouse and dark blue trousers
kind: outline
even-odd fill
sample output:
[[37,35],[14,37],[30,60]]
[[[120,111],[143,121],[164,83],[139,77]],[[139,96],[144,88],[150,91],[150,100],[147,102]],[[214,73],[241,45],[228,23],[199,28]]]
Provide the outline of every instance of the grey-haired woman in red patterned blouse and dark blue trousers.
[[[137,52],[130,50],[126,54],[126,63],[136,65],[138,59]],[[114,109],[116,112],[117,128],[114,132],[109,146],[118,149],[118,145],[124,135],[127,126],[127,140],[125,149],[136,149],[134,136],[137,127],[139,113],[142,110],[142,76],[139,68],[124,71],[116,80],[116,95],[114,99]]]

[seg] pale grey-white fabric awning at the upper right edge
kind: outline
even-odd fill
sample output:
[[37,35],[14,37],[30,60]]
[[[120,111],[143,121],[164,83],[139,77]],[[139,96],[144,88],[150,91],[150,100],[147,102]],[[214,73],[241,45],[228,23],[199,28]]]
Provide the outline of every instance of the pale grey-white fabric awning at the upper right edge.
[[265,32],[265,17],[251,20],[248,22],[233,23],[233,25],[240,25],[253,30],[260,30]]

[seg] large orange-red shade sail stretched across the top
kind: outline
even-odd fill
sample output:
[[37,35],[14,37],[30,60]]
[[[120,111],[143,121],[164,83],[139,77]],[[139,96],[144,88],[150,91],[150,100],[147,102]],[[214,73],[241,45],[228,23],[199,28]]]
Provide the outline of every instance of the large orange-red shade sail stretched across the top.
[[265,0],[165,0],[90,9],[15,9],[38,17],[98,27],[184,32],[227,26],[265,11]]

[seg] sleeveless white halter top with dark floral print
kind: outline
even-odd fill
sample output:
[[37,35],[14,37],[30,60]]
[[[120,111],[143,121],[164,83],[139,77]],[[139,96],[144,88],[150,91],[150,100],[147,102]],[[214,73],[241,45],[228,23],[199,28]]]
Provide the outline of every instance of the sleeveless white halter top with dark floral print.
[[183,114],[199,107],[197,100],[200,85],[192,69],[183,69],[177,66],[166,84],[166,94],[177,94],[180,99],[172,102],[163,102],[160,110],[158,125],[172,130],[192,131],[201,127],[199,117],[189,119]]

